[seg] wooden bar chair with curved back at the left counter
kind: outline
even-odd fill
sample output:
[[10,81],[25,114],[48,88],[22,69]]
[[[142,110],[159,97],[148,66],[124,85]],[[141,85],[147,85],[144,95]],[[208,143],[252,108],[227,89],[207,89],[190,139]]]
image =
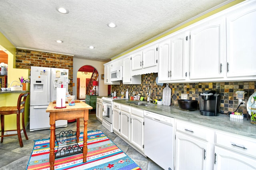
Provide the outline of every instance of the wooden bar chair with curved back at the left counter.
[[[24,135],[26,137],[26,140],[28,140],[28,136],[25,129],[25,123],[24,123],[24,111],[25,111],[25,101],[29,93],[22,93],[20,94],[18,98],[17,106],[3,106],[0,107],[0,115],[1,115],[1,143],[4,140],[4,137],[6,136],[14,136],[18,135],[18,139],[20,142],[20,147],[23,147],[22,137],[20,132],[23,130]],[[4,130],[4,115],[11,115],[16,114],[16,122],[17,122],[17,129],[14,130]],[[20,115],[22,115],[22,129],[20,129]],[[17,134],[6,134],[4,135],[4,132],[7,131],[17,131]]]

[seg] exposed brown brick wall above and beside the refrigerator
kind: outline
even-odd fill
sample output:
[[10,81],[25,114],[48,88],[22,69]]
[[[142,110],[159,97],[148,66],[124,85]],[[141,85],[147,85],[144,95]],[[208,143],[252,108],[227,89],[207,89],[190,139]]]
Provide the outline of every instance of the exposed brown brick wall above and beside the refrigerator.
[[16,68],[30,70],[31,66],[68,69],[68,91],[73,94],[73,56],[17,48]]

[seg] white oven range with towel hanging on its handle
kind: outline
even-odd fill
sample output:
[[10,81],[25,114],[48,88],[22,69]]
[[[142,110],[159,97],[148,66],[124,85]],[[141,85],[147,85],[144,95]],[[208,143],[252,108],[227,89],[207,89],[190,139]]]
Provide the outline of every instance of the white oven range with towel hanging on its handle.
[[108,131],[113,131],[112,125],[112,106],[114,100],[120,100],[124,98],[120,97],[102,97],[103,113],[102,113],[102,126],[104,126]]

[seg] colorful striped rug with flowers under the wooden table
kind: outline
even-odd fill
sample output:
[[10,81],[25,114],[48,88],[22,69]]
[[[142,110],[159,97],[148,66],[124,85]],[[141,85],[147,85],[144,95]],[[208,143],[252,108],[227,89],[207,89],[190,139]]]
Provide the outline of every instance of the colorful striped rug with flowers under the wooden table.
[[[100,130],[88,131],[87,162],[83,155],[74,154],[55,159],[55,170],[140,170],[141,168]],[[80,134],[79,146],[83,144]],[[28,162],[27,170],[49,170],[50,140],[37,140]],[[55,148],[57,150],[57,147]]]

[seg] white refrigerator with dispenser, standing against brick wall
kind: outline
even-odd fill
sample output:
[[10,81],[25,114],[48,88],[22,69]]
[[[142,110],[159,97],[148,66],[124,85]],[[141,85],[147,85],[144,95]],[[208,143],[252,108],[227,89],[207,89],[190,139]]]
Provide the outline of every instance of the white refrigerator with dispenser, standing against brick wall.
[[[50,128],[50,113],[46,109],[56,101],[56,88],[68,91],[68,69],[34,67],[30,73],[30,131]],[[57,127],[67,127],[68,121],[58,120]]]

